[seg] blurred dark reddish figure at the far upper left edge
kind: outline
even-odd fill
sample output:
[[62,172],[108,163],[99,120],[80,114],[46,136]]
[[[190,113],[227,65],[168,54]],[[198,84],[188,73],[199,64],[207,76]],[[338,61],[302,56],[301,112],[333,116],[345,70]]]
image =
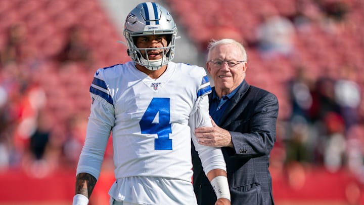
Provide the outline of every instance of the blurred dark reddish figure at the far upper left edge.
[[16,23],[9,27],[5,48],[0,52],[0,67],[9,63],[21,63],[25,57],[27,27],[23,23]]

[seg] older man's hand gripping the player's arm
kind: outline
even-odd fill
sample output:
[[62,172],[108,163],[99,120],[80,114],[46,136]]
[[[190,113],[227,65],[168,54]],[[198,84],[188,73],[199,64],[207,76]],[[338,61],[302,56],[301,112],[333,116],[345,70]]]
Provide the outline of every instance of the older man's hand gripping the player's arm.
[[211,118],[212,127],[201,127],[195,129],[198,143],[213,147],[233,147],[229,131],[218,127]]

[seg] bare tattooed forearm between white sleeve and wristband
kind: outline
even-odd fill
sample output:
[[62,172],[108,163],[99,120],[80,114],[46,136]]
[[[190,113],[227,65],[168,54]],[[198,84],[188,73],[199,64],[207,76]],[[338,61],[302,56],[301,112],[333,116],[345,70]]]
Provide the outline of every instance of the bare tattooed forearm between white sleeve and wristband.
[[96,182],[97,179],[94,176],[87,173],[79,173],[76,176],[76,194],[82,194],[89,198]]

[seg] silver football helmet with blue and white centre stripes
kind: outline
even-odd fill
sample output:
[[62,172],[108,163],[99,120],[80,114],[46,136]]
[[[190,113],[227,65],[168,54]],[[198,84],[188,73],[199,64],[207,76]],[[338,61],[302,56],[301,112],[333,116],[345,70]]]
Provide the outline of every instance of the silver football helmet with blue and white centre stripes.
[[[134,37],[142,35],[167,35],[167,47],[163,48],[137,48]],[[146,2],[137,5],[126,17],[124,36],[127,42],[127,53],[130,58],[149,70],[158,70],[166,65],[174,57],[174,42],[177,35],[177,27],[168,10],[157,3]],[[159,60],[145,59],[140,50],[146,53],[150,50],[163,49],[163,57]]]

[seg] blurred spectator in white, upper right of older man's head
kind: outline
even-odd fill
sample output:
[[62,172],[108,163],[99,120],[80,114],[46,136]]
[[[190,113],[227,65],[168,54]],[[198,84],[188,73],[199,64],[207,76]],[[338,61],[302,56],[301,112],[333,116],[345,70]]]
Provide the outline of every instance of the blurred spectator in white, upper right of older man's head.
[[274,7],[262,11],[262,23],[256,35],[263,58],[290,57],[294,52],[295,27],[286,17],[280,16]]

